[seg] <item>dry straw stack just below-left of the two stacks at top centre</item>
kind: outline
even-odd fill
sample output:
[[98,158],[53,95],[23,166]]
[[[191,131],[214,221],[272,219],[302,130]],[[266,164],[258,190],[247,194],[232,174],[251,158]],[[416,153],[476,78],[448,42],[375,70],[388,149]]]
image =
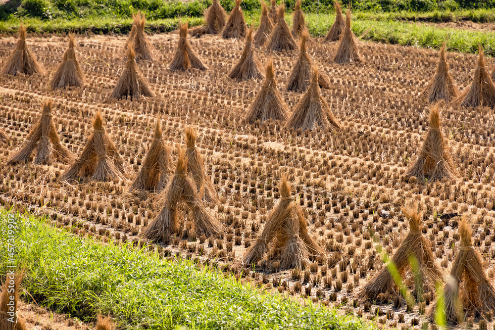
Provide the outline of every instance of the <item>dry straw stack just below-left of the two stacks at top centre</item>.
[[207,67],[201,62],[196,51],[191,48],[189,40],[187,39],[188,22],[179,22],[179,44],[175,51],[174,59],[170,63],[169,69],[175,70],[187,70],[194,68],[198,70],[206,70]]

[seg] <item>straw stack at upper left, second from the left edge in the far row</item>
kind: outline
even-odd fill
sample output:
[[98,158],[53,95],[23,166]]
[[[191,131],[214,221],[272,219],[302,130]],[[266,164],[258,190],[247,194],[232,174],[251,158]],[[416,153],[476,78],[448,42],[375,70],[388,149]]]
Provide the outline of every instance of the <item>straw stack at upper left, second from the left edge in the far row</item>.
[[57,71],[51,77],[51,90],[63,88],[66,86],[79,87],[84,84],[84,75],[74,50],[74,35],[69,35],[69,47],[63,54],[62,63],[58,66]]

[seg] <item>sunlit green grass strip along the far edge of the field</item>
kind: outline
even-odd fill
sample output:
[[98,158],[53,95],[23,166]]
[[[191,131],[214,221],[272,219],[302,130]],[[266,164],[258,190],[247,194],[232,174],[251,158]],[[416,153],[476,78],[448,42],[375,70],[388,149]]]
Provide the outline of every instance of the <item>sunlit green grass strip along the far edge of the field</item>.
[[[246,21],[250,24],[259,20],[258,13],[246,12]],[[495,56],[495,33],[478,32],[451,28],[437,28],[407,21],[362,19],[356,15],[352,21],[352,30],[357,35],[362,35],[363,40],[381,42],[386,44],[398,44],[401,46],[415,46],[439,49],[447,39],[447,50],[465,53],[477,53],[478,45],[484,48],[485,54]],[[189,19],[190,26],[202,24],[202,18]],[[313,36],[324,36],[332,26],[335,14],[307,14],[306,21],[309,31]],[[289,25],[292,24],[290,15],[286,15]],[[84,32],[94,33],[127,33],[131,29],[132,21],[128,18],[83,18],[83,19],[53,19],[41,20],[28,18],[23,20],[29,31],[33,32]],[[15,33],[19,20],[16,18],[0,21],[0,32]],[[151,32],[170,32],[177,28],[177,18],[150,20],[147,30]]]

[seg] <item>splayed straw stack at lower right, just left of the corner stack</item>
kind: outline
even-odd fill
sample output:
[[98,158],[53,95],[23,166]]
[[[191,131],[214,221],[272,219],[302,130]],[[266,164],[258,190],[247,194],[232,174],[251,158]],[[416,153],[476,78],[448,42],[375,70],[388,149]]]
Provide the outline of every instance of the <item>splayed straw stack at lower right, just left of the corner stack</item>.
[[[411,269],[410,258],[414,258],[420,278],[419,283],[416,282],[420,285],[416,287],[416,292],[435,292],[437,283],[443,283],[443,274],[435,263],[430,241],[421,234],[421,214],[416,208],[402,208],[402,212],[409,222],[409,233],[392,256],[391,262],[403,279],[406,271]],[[389,267],[384,267],[364,285],[359,295],[361,298],[375,299],[380,293],[396,292],[397,286]]]

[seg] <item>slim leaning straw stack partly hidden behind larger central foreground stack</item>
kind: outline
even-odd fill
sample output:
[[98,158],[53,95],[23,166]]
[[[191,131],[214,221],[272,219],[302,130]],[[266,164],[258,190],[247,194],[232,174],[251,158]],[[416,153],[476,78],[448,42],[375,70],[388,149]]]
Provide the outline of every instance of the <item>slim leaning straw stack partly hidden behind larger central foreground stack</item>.
[[209,203],[218,204],[218,196],[215,188],[204,175],[203,157],[196,147],[196,131],[191,127],[186,127],[186,156],[188,158],[188,170],[196,183],[198,196]]

